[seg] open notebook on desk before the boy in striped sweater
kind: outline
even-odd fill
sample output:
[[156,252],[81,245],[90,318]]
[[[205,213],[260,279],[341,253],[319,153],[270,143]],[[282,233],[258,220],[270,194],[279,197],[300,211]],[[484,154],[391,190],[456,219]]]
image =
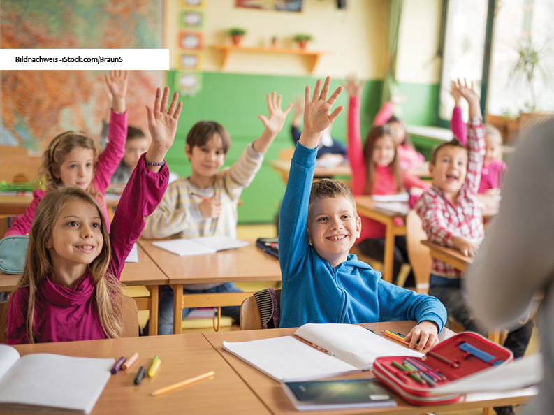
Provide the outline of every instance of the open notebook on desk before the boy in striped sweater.
[[227,236],[201,236],[200,238],[182,238],[152,242],[152,245],[180,256],[215,254],[224,249],[245,247],[248,242]]

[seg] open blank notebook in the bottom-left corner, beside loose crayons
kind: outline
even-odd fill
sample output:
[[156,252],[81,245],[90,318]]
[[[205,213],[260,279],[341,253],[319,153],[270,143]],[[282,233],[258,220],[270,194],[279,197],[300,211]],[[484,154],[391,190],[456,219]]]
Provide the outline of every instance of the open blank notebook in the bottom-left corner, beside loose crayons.
[[0,344],[0,412],[89,414],[114,358],[29,354]]

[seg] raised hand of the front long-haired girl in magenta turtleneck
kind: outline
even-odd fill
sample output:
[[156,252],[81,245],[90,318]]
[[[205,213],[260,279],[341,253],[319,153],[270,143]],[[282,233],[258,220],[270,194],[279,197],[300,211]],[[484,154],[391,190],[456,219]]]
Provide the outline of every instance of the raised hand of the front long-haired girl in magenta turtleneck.
[[152,159],[148,158],[148,161],[161,161],[154,160],[154,158],[159,158],[159,155],[163,152],[163,157],[166,156],[166,152],[173,144],[175,139],[175,133],[177,132],[177,123],[179,121],[179,116],[183,108],[183,103],[177,103],[179,99],[179,94],[175,92],[173,94],[173,99],[169,105],[169,108],[166,112],[169,99],[169,87],[163,88],[163,96],[161,94],[161,89],[156,88],[156,99],[154,100],[154,108],[150,108],[146,105],[146,112],[148,117],[148,130],[152,136],[152,144],[148,149],[148,154],[151,153]]

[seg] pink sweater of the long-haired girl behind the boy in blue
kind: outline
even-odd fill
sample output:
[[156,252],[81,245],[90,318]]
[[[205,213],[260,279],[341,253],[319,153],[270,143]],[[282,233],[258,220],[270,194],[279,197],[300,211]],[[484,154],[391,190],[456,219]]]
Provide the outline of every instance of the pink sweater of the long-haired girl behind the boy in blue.
[[[351,96],[348,106],[348,124],[347,124],[347,153],[352,169],[352,193],[354,196],[365,194],[365,181],[367,179],[367,168],[362,150],[362,140],[360,136],[360,97]],[[373,191],[371,194],[395,194],[396,182],[390,166],[376,166]],[[419,187],[429,189],[430,186],[420,180],[418,177],[401,174],[402,187]],[[395,221],[402,226],[402,219],[396,218]],[[368,238],[384,238],[385,226],[377,221],[362,217],[362,232],[360,240]]]

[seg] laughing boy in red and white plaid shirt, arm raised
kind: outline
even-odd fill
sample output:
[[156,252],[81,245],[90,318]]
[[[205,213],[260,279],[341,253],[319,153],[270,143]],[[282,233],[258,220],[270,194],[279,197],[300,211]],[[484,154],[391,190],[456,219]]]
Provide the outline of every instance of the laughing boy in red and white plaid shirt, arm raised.
[[[462,85],[458,80],[456,88],[469,103],[467,149],[458,139],[435,147],[429,165],[433,187],[423,192],[416,210],[431,242],[458,249],[466,256],[474,256],[477,249],[474,240],[484,235],[476,194],[485,154],[485,131],[481,124],[479,96],[473,89],[473,83],[468,87],[467,82]],[[429,294],[439,298],[449,316],[462,324],[465,330],[486,336],[486,328],[474,318],[465,291],[460,287],[463,277],[465,274],[460,270],[433,258]],[[525,326],[509,332],[504,346],[513,351],[514,357],[525,353],[532,328],[530,320]]]

